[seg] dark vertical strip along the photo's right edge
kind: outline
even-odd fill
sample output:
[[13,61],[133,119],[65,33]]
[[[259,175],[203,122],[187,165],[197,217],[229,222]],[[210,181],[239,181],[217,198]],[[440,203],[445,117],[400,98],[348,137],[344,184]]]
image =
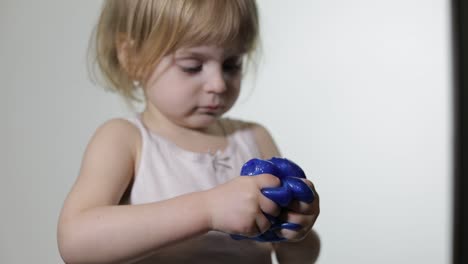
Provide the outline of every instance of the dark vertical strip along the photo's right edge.
[[468,263],[468,1],[452,0],[454,65],[453,263]]

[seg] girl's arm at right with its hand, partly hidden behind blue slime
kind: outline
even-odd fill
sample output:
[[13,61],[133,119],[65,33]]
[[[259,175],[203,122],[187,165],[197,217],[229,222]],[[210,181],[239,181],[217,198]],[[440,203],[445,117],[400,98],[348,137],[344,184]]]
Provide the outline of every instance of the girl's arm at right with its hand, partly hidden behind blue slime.
[[[281,156],[273,138],[264,127],[253,125],[253,131],[263,159]],[[306,183],[314,188],[310,182]],[[314,192],[317,194],[315,189]],[[289,222],[312,227],[320,211],[318,196],[312,205],[296,202],[289,209],[291,211],[282,217]],[[291,242],[273,243],[279,263],[314,263],[317,260],[320,253],[320,239],[314,230],[311,228],[298,232],[282,230],[281,235],[291,239]]]

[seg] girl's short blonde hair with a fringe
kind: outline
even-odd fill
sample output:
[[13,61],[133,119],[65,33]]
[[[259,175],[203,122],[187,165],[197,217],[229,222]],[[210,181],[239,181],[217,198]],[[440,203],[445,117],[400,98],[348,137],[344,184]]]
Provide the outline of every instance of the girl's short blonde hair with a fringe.
[[[95,80],[130,101],[163,56],[181,47],[232,47],[249,59],[258,44],[255,0],[105,0],[90,42]],[[125,60],[119,54],[125,49]]]

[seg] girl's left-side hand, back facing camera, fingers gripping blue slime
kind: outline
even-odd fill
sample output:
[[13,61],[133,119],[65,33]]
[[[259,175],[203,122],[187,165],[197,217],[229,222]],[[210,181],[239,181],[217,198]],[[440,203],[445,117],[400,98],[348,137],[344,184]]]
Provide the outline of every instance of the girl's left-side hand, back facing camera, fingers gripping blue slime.
[[278,177],[261,174],[237,177],[205,192],[212,230],[253,237],[270,228],[263,213],[278,216],[280,207],[265,197],[261,189],[281,185]]

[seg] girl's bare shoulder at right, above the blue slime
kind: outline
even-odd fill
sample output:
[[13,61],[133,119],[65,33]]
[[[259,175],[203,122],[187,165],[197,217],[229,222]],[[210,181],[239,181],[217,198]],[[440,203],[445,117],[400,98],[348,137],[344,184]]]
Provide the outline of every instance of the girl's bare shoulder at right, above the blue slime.
[[250,129],[263,159],[281,156],[273,137],[265,126],[236,119],[223,119],[223,123],[230,128],[230,133],[241,129]]

